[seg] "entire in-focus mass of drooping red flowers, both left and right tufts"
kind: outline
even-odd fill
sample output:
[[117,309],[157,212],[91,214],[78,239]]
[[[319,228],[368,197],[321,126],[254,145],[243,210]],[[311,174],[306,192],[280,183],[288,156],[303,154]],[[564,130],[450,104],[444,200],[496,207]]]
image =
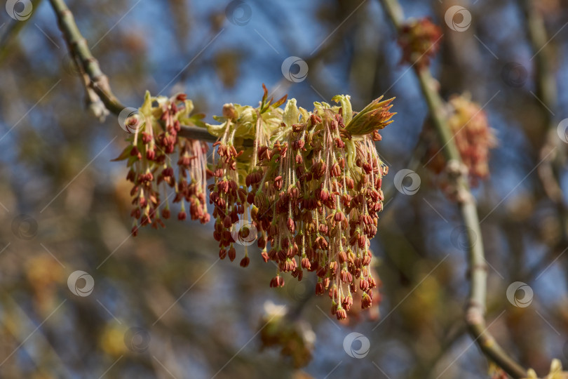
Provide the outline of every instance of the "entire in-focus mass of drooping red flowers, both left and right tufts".
[[[210,173],[219,258],[232,261],[235,244],[256,241],[264,261],[278,267],[271,287],[284,285],[283,273],[302,280],[304,271],[315,272],[315,292],[327,291],[337,319],[346,318],[353,298],[362,309],[370,307],[380,282],[370,270],[370,239],[377,233],[382,177],[388,173],[374,142],[392,122],[393,99],[379,98],[358,113],[348,95],[333,100],[339,105],[315,102],[313,112],[297,107],[295,99],[282,109],[286,97],[272,102],[264,87],[258,107],[224,105],[215,117],[220,124],[205,125],[199,115],[190,117],[193,105],[185,95],[147,94],[140,112],[126,119],[134,133],[117,159],[128,159],[130,167],[133,234],[139,225],[163,225],[173,194],[181,203],[178,219],[187,217],[189,203],[191,219],[207,222]],[[180,138],[182,124],[206,126],[218,138],[210,166],[204,142]],[[241,266],[249,262],[245,247]]]

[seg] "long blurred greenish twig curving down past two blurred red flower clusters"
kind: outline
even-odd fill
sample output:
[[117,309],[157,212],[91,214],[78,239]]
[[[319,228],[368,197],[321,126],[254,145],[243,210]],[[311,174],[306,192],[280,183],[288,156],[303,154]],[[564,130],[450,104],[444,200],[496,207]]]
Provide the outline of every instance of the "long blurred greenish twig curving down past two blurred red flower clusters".
[[[393,25],[400,31],[404,22],[403,9],[397,0],[381,0],[388,18]],[[459,193],[458,205],[461,211],[461,218],[466,225],[468,232],[468,261],[469,261],[469,281],[470,293],[466,306],[466,324],[475,343],[478,344],[482,352],[497,365],[503,368],[506,373],[513,378],[525,378],[526,371],[517,364],[508,354],[499,347],[491,333],[485,326],[485,302],[487,295],[487,266],[485,263],[485,253],[483,251],[482,234],[479,225],[477,206],[471,194],[466,173],[463,169],[461,155],[452,138],[452,133],[447,124],[445,112],[443,111],[444,101],[436,89],[435,80],[427,67],[414,67],[421,90],[424,93],[428,109],[430,109],[433,126],[442,144],[442,152],[447,161],[447,168],[452,169],[449,178]]]

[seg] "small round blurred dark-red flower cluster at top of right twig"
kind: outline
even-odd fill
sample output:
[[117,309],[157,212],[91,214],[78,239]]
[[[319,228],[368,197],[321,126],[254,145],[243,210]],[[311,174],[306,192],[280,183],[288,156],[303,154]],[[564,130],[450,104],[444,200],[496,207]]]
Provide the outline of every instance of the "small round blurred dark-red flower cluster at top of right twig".
[[403,62],[418,68],[430,64],[431,58],[440,48],[438,42],[442,30],[428,17],[412,19],[400,28],[398,44],[403,48]]

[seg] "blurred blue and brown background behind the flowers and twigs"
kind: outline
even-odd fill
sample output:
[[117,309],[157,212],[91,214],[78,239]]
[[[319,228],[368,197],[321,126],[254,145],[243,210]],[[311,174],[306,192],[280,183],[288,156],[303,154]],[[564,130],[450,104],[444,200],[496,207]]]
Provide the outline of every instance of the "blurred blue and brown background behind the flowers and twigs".
[[[457,207],[422,165],[416,194],[393,188],[414,157],[428,108],[379,1],[67,3],[114,93],[130,106],[146,90],[185,92],[211,122],[226,102],[257,105],[263,83],[275,98],[288,93],[308,109],[340,93],[351,94],[354,109],[396,96],[395,122],[377,144],[391,168],[372,242],[383,300],[339,324],[328,317],[328,299],[311,295],[309,280],[287,277],[284,288],[269,288],[273,267],[254,246],[247,269],[218,261],[212,224],[169,220],[164,230],[130,237],[126,167],[110,161],[127,135],[115,116],[100,123],[85,109],[53,10],[34,1],[26,21],[0,9],[1,378],[489,375],[463,319],[468,281]],[[428,15],[442,28],[431,67],[442,95],[470,93],[499,138],[491,178],[475,189],[489,263],[487,324],[543,375],[553,357],[568,366],[564,131],[555,136],[554,169],[539,175],[548,164],[543,147],[556,133],[549,127],[568,117],[568,2],[536,2],[549,41],[536,55],[520,3],[401,2],[407,17]],[[445,22],[452,5],[472,15],[464,32]],[[557,84],[548,110],[536,65],[544,53]],[[309,67],[301,81],[283,75],[290,56]],[[555,183],[547,180],[560,183],[560,196],[550,196]],[[87,274],[78,288],[93,278],[88,295],[67,285],[77,270]],[[528,306],[507,299],[515,281],[532,291]],[[270,302],[293,314],[287,325],[298,338],[288,347],[296,360],[262,348]],[[365,357],[349,354],[360,340],[344,348],[353,332],[370,341]],[[298,361],[307,365],[297,368]]]

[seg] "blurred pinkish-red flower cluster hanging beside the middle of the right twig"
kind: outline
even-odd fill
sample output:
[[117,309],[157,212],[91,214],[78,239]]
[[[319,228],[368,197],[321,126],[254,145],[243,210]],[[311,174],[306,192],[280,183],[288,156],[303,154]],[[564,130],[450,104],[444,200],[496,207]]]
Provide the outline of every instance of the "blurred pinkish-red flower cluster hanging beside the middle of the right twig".
[[[448,102],[447,121],[471,185],[478,185],[479,180],[489,176],[489,150],[497,145],[487,114],[469,95],[453,95]],[[440,173],[445,168],[445,159],[437,140],[430,140],[426,154],[428,167]]]

